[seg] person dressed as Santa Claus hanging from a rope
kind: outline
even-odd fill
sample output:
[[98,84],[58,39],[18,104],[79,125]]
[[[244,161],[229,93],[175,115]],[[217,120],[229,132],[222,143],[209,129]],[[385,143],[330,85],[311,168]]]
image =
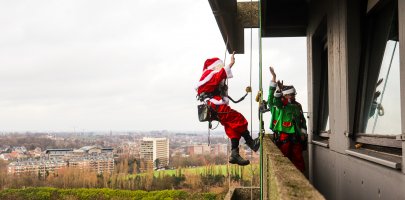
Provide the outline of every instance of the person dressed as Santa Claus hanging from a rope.
[[253,151],[257,151],[260,146],[258,138],[252,139],[250,136],[248,122],[238,111],[233,110],[229,104],[229,98],[226,95],[225,84],[227,78],[232,78],[231,68],[235,64],[235,52],[231,56],[229,65],[219,58],[207,59],[204,63],[203,74],[197,84],[196,90],[200,100],[205,101],[216,112],[218,120],[225,128],[226,135],[231,140],[231,156],[229,163],[238,165],[248,165],[250,162],[242,158],[239,154],[239,140],[243,137],[246,145]]

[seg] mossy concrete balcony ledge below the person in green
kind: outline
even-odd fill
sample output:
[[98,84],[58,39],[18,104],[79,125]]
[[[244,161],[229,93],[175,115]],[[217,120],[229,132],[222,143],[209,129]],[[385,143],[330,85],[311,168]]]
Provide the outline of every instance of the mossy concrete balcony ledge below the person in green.
[[325,199],[269,135],[263,141],[263,178],[263,199]]

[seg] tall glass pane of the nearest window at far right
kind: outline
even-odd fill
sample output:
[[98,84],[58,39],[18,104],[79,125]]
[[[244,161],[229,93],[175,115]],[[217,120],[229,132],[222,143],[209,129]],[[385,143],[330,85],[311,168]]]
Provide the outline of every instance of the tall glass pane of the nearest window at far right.
[[360,133],[401,134],[398,14],[396,1],[367,16]]

